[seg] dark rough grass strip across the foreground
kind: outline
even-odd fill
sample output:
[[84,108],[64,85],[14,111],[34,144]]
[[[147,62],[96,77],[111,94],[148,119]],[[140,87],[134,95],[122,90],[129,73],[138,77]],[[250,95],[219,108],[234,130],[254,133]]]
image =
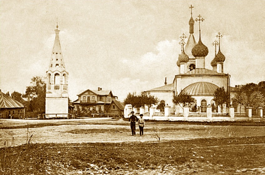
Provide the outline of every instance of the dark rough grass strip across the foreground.
[[[91,168],[93,164],[109,170],[125,170],[199,162],[211,163],[212,167],[230,168],[231,172],[237,167],[264,166],[265,146],[248,144],[265,144],[265,137],[175,140],[159,143],[28,144],[1,148],[0,162],[1,168],[8,169],[9,174],[45,174],[48,170],[51,174],[56,174],[59,170],[84,170]],[[18,155],[20,159],[16,161]]]

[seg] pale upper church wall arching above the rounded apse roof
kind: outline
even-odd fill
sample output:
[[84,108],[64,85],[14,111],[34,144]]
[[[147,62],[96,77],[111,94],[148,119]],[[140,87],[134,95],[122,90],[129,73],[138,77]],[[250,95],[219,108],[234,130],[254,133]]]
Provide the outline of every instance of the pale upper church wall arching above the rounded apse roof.
[[217,85],[218,87],[223,87],[227,90],[227,76],[181,76],[176,77],[177,84],[174,84],[176,91],[179,94],[188,85],[197,82],[209,82]]

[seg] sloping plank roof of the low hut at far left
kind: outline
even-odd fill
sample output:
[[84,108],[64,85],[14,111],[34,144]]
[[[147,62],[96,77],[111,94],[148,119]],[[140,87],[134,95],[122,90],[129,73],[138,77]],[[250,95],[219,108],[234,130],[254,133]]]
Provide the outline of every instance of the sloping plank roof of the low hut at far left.
[[0,90],[0,108],[24,108],[24,105]]

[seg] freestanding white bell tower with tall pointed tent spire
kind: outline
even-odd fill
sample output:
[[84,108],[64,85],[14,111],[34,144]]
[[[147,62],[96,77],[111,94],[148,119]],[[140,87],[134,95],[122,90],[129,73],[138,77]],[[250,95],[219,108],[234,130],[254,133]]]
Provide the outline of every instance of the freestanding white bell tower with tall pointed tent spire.
[[46,71],[46,118],[68,117],[68,72],[65,70],[59,32],[57,24],[49,69]]

